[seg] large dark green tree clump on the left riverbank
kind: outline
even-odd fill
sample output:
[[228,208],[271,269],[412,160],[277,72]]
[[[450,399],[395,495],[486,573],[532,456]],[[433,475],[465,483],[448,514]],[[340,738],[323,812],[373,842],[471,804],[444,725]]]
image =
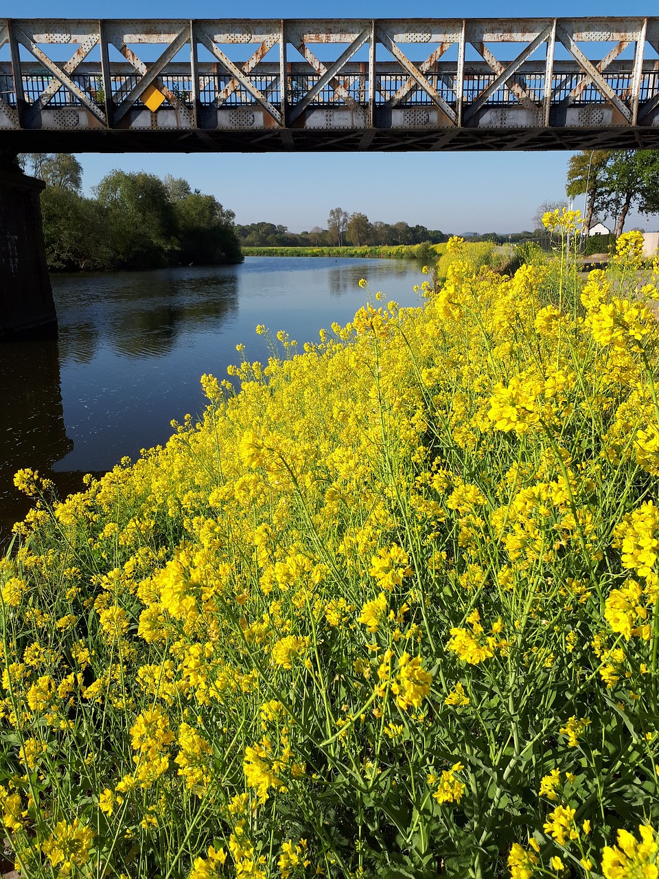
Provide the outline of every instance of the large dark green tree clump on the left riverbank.
[[46,183],[41,212],[51,271],[152,269],[217,265],[243,260],[233,211],[213,195],[192,192],[187,181],[143,171],[111,171],[82,194],[83,169],[75,156],[20,156]]

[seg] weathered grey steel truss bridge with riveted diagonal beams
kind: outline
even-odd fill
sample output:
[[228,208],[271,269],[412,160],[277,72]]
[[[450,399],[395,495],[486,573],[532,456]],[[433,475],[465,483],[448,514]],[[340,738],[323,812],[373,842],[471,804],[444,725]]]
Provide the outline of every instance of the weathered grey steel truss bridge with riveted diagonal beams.
[[0,20],[0,152],[659,148],[659,18]]

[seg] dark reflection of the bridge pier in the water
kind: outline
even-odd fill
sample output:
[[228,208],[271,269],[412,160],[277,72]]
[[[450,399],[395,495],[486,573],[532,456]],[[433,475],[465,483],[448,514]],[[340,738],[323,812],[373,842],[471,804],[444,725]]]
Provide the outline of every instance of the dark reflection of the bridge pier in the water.
[[18,469],[47,475],[73,448],[66,433],[56,341],[0,345],[0,544],[31,502],[14,488]]

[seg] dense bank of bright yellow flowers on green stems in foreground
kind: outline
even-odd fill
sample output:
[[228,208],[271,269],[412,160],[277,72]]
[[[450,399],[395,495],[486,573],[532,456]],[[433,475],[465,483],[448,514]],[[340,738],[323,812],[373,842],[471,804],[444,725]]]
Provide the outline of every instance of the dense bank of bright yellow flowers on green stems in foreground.
[[[545,216],[557,243],[578,212]],[[205,374],[0,561],[21,875],[656,875],[659,263],[493,271]],[[477,255],[477,254],[476,254]]]

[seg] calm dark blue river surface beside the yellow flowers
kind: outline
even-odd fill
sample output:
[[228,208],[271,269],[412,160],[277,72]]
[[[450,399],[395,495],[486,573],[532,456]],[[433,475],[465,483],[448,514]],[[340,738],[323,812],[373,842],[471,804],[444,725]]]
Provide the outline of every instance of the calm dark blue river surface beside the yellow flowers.
[[199,376],[227,375],[246,345],[267,361],[264,323],[299,343],[347,323],[374,295],[418,304],[421,265],[395,260],[248,257],[243,265],[54,275],[56,342],[0,345],[0,541],[29,502],[13,487],[21,467],[61,493],[83,473],[170,437],[172,418],[204,409]]

